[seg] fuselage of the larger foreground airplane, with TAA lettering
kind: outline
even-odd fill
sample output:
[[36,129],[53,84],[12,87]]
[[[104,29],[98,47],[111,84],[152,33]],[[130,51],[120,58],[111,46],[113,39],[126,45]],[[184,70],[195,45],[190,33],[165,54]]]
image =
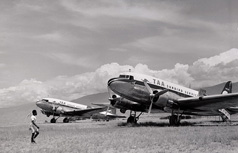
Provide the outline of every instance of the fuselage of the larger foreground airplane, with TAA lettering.
[[[144,85],[143,80],[146,80],[148,85],[154,92],[159,92],[168,89],[168,92],[163,94],[159,103],[154,103],[158,107],[165,107],[167,97],[171,100],[177,100],[185,97],[198,96],[198,91],[186,87],[182,87],[161,79],[150,77],[147,75],[138,75],[134,73],[125,73],[118,78],[113,78],[108,81],[108,87],[117,95],[128,100],[138,102],[142,105],[149,105],[151,97]],[[163,100],[163,98],[165,100]]]

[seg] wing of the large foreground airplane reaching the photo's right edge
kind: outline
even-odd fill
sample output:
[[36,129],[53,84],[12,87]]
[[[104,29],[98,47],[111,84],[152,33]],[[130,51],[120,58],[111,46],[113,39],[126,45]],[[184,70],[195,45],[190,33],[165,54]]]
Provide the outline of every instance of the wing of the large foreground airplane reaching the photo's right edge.
[[238,93],[182,98],[175,101],[183,110],[211,111],[238,105]]

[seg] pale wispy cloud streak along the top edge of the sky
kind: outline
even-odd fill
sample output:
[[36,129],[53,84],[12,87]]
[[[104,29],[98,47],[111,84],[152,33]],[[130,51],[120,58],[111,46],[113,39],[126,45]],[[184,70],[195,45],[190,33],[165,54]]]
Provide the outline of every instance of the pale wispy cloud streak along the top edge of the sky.
[[[157,6],[154,7],[154,5]],[[100,17],[100,16],[113,16],[118,18],[138,18],[138,19],[170,19],[170,11],[167,8],[178,10],[176,5],[169,5],[166,3],[131,3],[126,0],[122,1],[110,1],[110,0],[100,0],[96,2],[89,1],[62,1],[62,6],[66,9],[82,13],[90,17]],[[158,8],[159,7],[159,8]],[[150,8],[150,9],[148,9]],[[167,13],[164,13],[166,11]],[[162,13],[163,12],[163,13]],[[175,15],[175,13],[172,13]]]

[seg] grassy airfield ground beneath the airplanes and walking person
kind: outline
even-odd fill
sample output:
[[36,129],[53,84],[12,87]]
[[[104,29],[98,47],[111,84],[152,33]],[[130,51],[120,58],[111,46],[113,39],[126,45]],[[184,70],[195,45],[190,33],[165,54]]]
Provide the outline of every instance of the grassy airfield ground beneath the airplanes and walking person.
[[[214,121],[217,120],[217,121]],[[163,153],[237,152],[238,121],[216,118],[184,120],[170,127],[167,120],[143,116],[137,126],[125,120],[39,123],[37,144],[30,143],[28,124],[0,127],[0,152]]]

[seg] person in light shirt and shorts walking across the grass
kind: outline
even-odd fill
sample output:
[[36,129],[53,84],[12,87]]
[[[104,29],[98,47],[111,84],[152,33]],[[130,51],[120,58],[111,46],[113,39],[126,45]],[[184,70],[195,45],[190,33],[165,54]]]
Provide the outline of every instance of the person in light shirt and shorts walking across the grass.
[[31,143],[36,143],[34,139],[39,134],[39,126],[36,125],[36,115],[37,115],[37,111],[33,110],[32,111],[32,116],[31,116],[31,124],[30,124],[30,129],[32,131]]

